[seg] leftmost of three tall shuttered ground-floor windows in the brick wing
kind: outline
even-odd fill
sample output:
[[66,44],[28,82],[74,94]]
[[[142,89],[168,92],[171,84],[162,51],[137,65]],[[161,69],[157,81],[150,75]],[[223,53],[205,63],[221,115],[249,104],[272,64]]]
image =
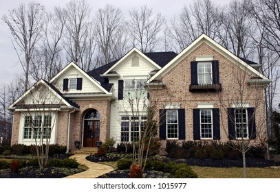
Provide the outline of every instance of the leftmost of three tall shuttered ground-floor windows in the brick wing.
[[178,110],[166,110],[167,139],[178,139]]

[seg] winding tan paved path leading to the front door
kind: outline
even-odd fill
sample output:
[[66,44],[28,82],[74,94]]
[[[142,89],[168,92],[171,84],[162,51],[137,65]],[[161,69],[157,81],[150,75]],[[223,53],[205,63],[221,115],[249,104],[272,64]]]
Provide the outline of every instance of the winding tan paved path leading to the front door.
[[89,154],[76,154],[74,156],[70,156],[70,158],[76,158],[78,163],[89,167],[89,169],[80,173],[76,173],[72,176],[67,176],[65,178],[97,178],[98,176],[102,176],[103,174],[114,170],[113,167],[86,160],[86,156],[89,156]]

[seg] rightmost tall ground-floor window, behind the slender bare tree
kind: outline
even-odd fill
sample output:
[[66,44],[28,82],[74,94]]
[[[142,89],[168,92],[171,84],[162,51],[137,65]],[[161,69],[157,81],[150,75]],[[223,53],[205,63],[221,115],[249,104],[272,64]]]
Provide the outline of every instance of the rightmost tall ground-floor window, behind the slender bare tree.
[[235,133],[236,138],[248,138],[248,129],[247,129],[247,110],[246,109],[235,109]]

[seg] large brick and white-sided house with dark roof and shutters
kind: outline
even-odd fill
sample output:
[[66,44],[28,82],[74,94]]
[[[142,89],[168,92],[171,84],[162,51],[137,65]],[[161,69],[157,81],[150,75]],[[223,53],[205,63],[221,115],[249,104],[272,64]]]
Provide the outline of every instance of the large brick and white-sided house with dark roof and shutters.
[[[127,102],[137,93],[139,109],[144,99],[154,101],[162,148],[166,141],[226,142],[241,135],[260,143],[266,134],[263,90],[271,81],[258,67],[205,34],[179,54],[133,48],[88,73],[71,62],[50,82],[36,82],[9,107],[14,112],[12,144],[34,143],[39,128],[43,138],[52,130],[51,143],[69,150],[74,141],[82,147],[96,147],[97,141],[109,138],[130,142],[147,120],[144,110],[135,117]],[[240,88],[244,98],[238,95]]]

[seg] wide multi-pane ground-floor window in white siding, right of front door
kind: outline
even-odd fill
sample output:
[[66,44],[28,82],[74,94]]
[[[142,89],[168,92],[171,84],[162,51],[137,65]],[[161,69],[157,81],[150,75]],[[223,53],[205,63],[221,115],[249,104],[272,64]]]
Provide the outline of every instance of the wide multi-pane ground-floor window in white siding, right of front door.
[[147,117],[122,116],[120,125],[120,137],[122,142],[137,141],[141,130],[145,128]]

